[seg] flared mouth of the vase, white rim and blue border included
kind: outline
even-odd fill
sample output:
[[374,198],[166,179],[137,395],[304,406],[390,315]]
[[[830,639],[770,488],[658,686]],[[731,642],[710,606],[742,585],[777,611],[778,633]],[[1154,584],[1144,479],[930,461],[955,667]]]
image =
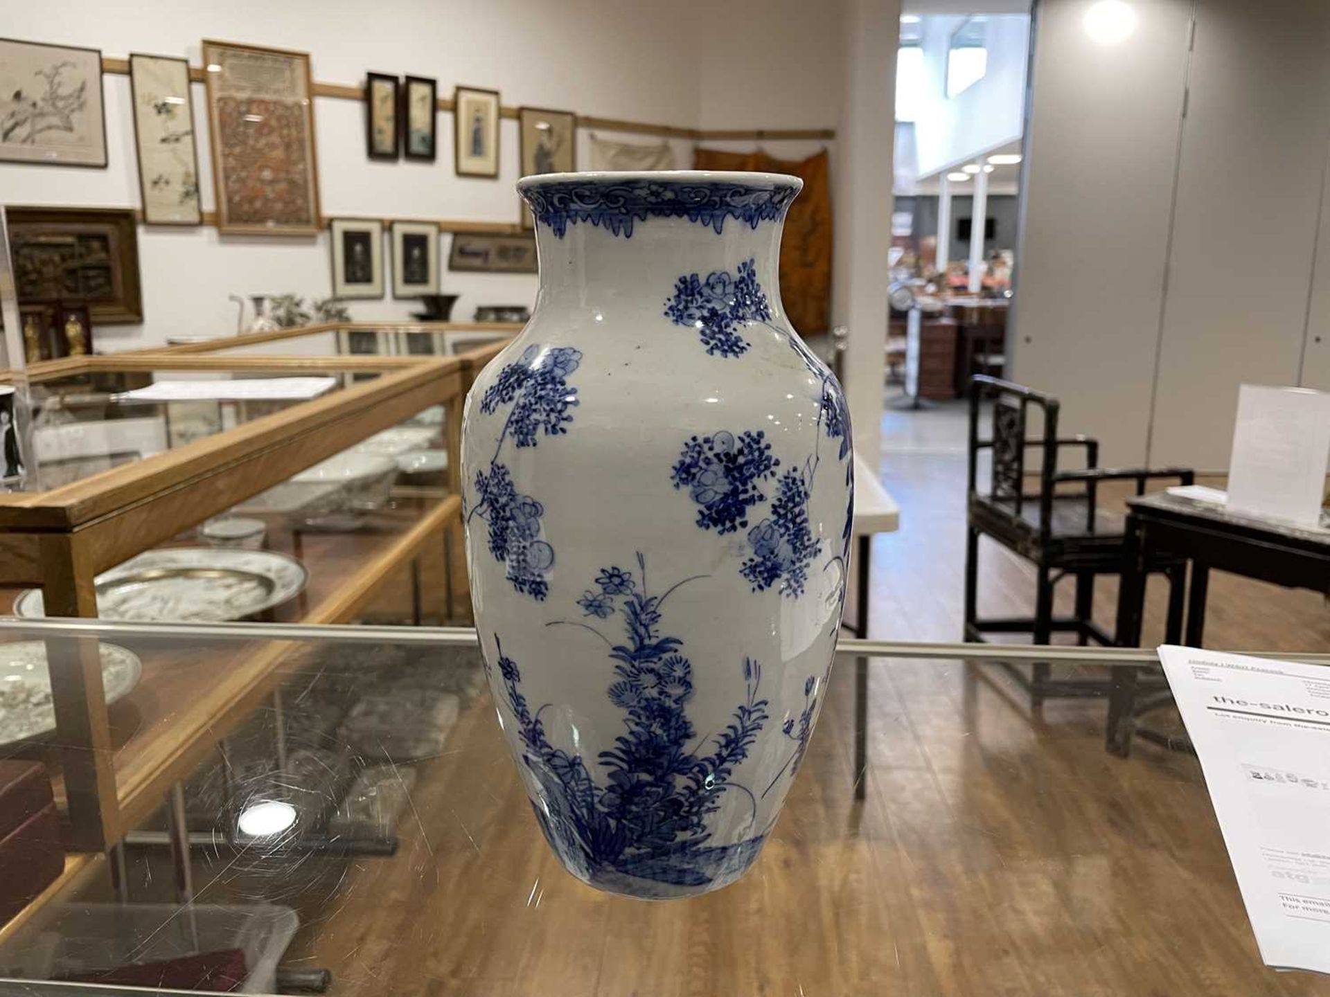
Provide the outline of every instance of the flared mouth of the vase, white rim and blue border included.
[[722,231],[728,221],[757,229],[779,222],[803,181],[785,173],[649,170],[544,173],[517,181],[537,227],[563,238],[587,223],[632,238],[648,219],[688,219]]

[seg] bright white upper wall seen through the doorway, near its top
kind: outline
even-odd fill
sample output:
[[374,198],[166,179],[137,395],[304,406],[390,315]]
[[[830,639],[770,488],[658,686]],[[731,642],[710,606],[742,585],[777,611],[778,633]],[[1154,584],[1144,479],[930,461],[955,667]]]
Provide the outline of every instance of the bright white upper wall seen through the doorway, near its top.
[[1029,17],[988,15],[988,66],[947,97],[947,51],[964,16],[926,16],[922,44],[927,89],[915,120],[919,175],[974,160],[1020,138],[1025,112]]

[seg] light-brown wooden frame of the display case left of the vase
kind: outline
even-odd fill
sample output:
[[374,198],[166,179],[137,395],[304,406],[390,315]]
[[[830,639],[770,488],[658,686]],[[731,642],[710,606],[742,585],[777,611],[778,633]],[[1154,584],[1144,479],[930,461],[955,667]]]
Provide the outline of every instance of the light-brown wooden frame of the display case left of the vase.
[[[309,608],[303,622],[348,622],[395,569],[431,538],[454,542],[464,392],[462,358],[197,356],[121,354],[51,362],[29,382],[97,372],[375,372],[322,397],[47,492],[0,495],[0,585],[40,585],[52,617],[96,617],[93,578],[238,501],[290,479],[431,405],[446,407],[448,493],[403,533],[358,562]],[[0,374],[0,379],[4,375]],[[459,548],[454,548],[459,549]],[[110,740],[94,641],[48,641],[68,843],[104,851],[145,819],[169,787],[271,693],[279,647],[190,690],[150,747],[121,763]],[[196,694],[197,693],[197,694]]]

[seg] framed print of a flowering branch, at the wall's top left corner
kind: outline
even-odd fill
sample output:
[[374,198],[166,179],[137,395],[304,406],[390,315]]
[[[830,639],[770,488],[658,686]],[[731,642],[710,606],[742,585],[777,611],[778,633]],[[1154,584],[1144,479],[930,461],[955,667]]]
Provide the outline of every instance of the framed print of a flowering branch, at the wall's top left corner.
[[0,160],[106,165],[101,52],[0,39]]

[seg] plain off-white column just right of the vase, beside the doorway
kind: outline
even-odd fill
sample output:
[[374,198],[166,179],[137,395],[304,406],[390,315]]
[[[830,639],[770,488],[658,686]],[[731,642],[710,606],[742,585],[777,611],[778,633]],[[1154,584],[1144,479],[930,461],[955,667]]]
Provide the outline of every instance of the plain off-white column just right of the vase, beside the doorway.
[[874,471],[882,453],[887,371],[887,259],[900,0],[842,5],[842,106],[835,161],[833,315],[849,327],[845,389],[854,447]]

